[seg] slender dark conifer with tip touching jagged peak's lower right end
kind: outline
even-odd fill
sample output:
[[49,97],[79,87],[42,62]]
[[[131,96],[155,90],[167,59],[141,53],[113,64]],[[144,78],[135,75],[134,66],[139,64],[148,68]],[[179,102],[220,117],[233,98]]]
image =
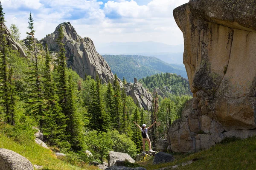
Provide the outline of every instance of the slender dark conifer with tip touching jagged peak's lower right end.
[[112,125],[114,129],[117,129],[120,133],[120,125],[121,125],[121,114],[122,114],[122,101],[121,101],[121,94],[120,94],[120,85],[118,81],[118,77],[115,74],[114,84],[113,84],[113,115],[111,116]]

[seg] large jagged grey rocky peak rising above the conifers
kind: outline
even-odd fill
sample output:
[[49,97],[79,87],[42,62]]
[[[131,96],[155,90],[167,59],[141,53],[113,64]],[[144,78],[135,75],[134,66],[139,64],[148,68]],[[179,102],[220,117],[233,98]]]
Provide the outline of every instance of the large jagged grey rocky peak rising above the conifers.
[[[52,34],[43,39],[43,44],[47,43],[51,51],[58,51],[56,40],[59,27],[63,28],[63,43],[65,44],[68,67],[76,71],[80,77],[87,74],[95,79],[96,75],[99,75],[102,83],[109,81],[113,83],[114,75],[105,59],[97,53],[93,41],[88,37],[80,37],[69,22],[58,25]],[[122,84],[121,81],[120,84]]]

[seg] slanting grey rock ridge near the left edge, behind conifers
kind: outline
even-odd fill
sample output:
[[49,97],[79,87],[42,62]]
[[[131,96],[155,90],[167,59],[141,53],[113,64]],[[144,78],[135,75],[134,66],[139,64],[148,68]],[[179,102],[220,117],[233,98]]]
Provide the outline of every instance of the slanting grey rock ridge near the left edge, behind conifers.
[[18,42],[16,42],[14,38],[12,38],[11,32],[9,31],[7,26],[4,24],[3,27],[5,28],[4,34],[8,45],[12,48],[12,50],[17,50],[20,53],[21,57],[26,57],[22,46]]

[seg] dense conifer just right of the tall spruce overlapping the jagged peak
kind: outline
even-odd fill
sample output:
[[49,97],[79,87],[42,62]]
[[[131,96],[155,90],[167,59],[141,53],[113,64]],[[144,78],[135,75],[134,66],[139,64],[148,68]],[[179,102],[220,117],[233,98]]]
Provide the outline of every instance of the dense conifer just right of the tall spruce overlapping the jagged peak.
[[83,148],[83,123],[81,114],[77,112],[74,98],[74,83],[72,82],[72,77],[69,76],[66,102],[66,133],[72,149],[77,151]]

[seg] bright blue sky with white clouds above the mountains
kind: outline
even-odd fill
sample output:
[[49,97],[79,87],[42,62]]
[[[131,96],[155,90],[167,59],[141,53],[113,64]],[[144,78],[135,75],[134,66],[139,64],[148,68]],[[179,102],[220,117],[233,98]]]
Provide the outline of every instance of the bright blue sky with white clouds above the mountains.
[[172,11],[189,0],[1,0],[6,25],[26,37],[31,11],[39,40],[69,21],[81,37],[105,42],[183,44]]

